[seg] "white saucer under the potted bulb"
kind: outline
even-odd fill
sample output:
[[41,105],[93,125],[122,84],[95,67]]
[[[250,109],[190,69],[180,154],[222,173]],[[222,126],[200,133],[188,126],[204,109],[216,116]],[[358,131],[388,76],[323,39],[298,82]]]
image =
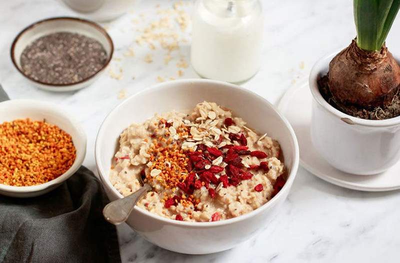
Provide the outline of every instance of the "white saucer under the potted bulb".
[[288,89],[278,103],[279,111],[288,119],[300,147],[300,164],[309,172],[330,183],[362,191],[400,189],[400,161],[387,171],[376,175],[354,175],[328,164],[311,143],[312,95],[308,82]]

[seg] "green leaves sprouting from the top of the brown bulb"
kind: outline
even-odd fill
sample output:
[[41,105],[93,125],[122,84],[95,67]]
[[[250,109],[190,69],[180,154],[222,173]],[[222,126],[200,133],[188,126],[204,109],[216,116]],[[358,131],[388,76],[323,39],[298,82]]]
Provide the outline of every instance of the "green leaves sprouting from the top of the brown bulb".
[[400,0],[354,0],[357,45],[380,50],[400,7]]

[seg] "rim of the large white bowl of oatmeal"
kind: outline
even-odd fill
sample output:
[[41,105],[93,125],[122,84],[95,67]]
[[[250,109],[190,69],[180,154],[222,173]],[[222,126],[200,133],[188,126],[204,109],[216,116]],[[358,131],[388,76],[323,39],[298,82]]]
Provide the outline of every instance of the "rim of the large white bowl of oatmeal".
[[168,81],[168,82],[162,82],[162,83],[153,85],[153,86],[151,86],[149,88],[145,88],[143,90],[140,90],[140,91],[134,93],[133,95],[127,97],[123,102],[118,104],[116,107],[114,107],[111,111],[109,111],[108,114],[106,115],[106,117],[104,118],[103,122],[101,123],[100,127],[99,127],[99,130],[98,130],[97,136],[96,136],[95,146],[94,146],[95,147],[95,149],[94,149],[95,162],[96,162],[96,167],[97,167],[97,171],[99,173],[99,177],[100,177],[101,182],[107,184],[107,186],[112,190],[112,192],[115,195],[117,195],[119,198],[123,197],[122,194],[120,194],[112,186],[110,181],[105,178],[105,176],[107,176],[108,174],[104,175],[102,173],[102,165],[101,165],[101,161],[100,161],[100,157],[99,157],[101,153],[100,153],[100,149],[99,149],[99,146],[98,146],[99,145],[98,141],[102,137],[103,127],[104,127],[104,125],[106,125],[106,122],[108,121],[109,115],[112,112],[118,110],[118,108],[121,107],[123,104],[129,103],[128,101],[132,97],[137,96],[139,94],[144,94],[144,93],[147,93],[147,92],[151,92],[151,91],[154,91],[154,90],[167,88],[167,85],[169,85],[171,83],[176,83],[176,84],[179,84],[179,83],[222,84],[222,85],[225,85],[225,86],[229,86],[231,88],[240,89],[240,90],[242,90],[242,91],[244,91],[246,93],[249,93],[251,95],[255,95],[255,96],[261,98],[262,100],[264,100],[265,103],[269,104],[269,106],[272,108],[272,110],[274,110],[278,114],[278,116],[280,117],[280,119],[283,121],[283,123],[285,124],[286,128],[290,132],[290,136],[291,136],[292,144],[293,144],[292,146],[294,148],[294,152],[292,153],[293,154],[293,165],[291,167],[291,171],[287,175],[288,176],[288,180],[285,182],[285,184],[283,185],[282,189],[275,196],[273,196],[269,201],[267,201],[266,203],[264,203],[263,205],[261,205],[257,209],[252,210],[251,212],[248,212],[246,214],[243,214],[243,215],[240,215],[240,216],[237,216],[237,217],[233,217],[233,218],[229,218],[229,219],[225,219],[225,220],[220,220],[220,221],[213,221],[213,222],[187,222],[187,221],[179,221],[179,220],[174,220],[174,219],[162,217],[162,216],[159,216],[159,215],[157,215],[155,213],[151,213],[151,212],[146,211],[146,210],[144,210],[144,209],[142,209],[140,207],[137,207],[136,205],[133,207],[133,209],[135,209],[135,211],[137,211],[137,212],[140,212],[141,214],[150,216],[150,217],[152,217],[154,219],[163,221],[165,223],[201,228],[201,227],[225,225],[225,224],[230,224],[230,223],[238,222],[238,221],[241,221],[241,220],[245,220],[245,219],[247,219],[249,217],[252,217],[252,216],[256,215],[257,213],[260,213],[262,210],[266,209],[267,207],[269,207],[269,206],[273,205],[275,202],[277,202],[277,200],[280,199],[280,196],[282,196],[282,194],[283,194],[282,192],[287,190],[287,188],[291,186],[291,184],[293,183],[294,177],[296,176],[296,173],[297,173],[297,168],[298,168],[298,163],[299,163],[299,149],[298,149],[297,138],[296,138],[296,135],[294,133],[293,128],[291,127],[291,125],[288,122],[288,120],[282,114],[280,114],[280,112],[275,108],[275,106],[273,106],[268,100],[266,100],[262,96],[254,93],[254,92],[252,92],[252,91],[250,91],[250,90],[248,90],[246,88],[240,87],[238,85],[227,83],[227,82],[224,82],[224,81],[219,81],[219,80],[211,80],[211,79],[186,78],[186,79],[178,79],[178,80],[171,80],[171,81]]

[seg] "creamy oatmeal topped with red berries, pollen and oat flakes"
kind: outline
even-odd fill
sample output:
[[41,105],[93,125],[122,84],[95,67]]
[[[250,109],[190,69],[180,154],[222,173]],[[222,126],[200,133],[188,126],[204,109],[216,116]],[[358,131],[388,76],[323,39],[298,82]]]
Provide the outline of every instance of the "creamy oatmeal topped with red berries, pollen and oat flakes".
[[279,143],[257,134],[213,102],[189,113],[155,114],[120,135],[110,170],[124,196],[153,189],[137,205],[184,221],[216,221],[250,212],[283,186]]

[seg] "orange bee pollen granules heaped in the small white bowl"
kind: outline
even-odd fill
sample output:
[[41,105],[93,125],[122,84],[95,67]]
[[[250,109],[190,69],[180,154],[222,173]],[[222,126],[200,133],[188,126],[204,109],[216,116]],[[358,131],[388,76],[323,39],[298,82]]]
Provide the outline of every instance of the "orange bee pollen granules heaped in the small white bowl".
[[0,124],[0,183],[29,186],[52,180],[76,157],[71,136],[45,121]]

